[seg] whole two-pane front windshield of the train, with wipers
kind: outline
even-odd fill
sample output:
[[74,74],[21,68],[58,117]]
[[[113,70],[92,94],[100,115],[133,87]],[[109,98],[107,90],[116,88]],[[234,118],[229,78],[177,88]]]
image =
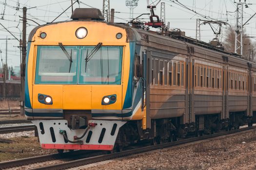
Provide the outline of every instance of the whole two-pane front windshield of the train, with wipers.
[[123,47],[95,47],[38,46],[35,84],[120,85]]

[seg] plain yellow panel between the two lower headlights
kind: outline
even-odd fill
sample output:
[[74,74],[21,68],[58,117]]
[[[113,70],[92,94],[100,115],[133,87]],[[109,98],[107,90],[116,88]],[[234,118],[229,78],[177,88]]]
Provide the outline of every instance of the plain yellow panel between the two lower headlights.
[[92,109],[91,85],[63,85],[63,109]]

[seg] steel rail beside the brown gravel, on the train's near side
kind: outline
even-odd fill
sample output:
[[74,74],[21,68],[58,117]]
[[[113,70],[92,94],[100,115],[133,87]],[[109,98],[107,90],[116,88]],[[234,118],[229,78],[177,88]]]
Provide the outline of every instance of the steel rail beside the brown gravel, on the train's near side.
[[[149,151],[163,149],[163,148],[172,147],[172,146],[177,146],[177,145],[181,145],[181,144],[187,144],[187,143],[191,143],[191,142],[195,142],[195,141],[199,141],[199,140],[205,140],[205,139],[210,139],[210,138],[219,137],[219,136],[226,136],[226,135],[230,135],[230,134],[236,134],[239,132],[240,133],[244,133],[246,131],[249,132],[249,131],[253,131],[255,129],[256,129],[256,127],[236,129],[236,130],[232,130],[232,131],[228,131],[228,132],[220,132],[220,133],[216,133],[216,134],[212,134],[212,135],[193,137],[193,138],[189,138],[189,139],[183,139],[183,140],[179,140],[179,141],[175,141],[175,142],[169,142],[169,143],[164,143],[164,144],[159,144],[159,145],[154,145],[154,146],[146,146],[146,147],[142,147],[142,148],[123,151],[120,153],[102,154],[102,155],[98,155],[98,156],[92,156],[92,157],[88,157],[88,158],[67,161],[65,163],[59,163],[59,164],[55,164],[55,165],[48,165],[45,167],[34,168],[31,170],[61,170],[61,169],[68,169],[68,168],[72,168],[72,167],[79,167],[82,165],[87,165],[87,164],[91,164],[91,163],[115,159],[115,158],[124,157],[124,156],[132,155],[132,154],[149,152]],[[0,167],[1,167],[1,164],[0,164]]]

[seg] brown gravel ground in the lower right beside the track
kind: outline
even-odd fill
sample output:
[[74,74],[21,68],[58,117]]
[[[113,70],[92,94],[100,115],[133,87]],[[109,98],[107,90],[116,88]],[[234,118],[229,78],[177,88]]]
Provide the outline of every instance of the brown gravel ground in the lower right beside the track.
[[[255,170],[256,131],[124,157],[97,170]],[[92,167],[82,170],[91,170]]]

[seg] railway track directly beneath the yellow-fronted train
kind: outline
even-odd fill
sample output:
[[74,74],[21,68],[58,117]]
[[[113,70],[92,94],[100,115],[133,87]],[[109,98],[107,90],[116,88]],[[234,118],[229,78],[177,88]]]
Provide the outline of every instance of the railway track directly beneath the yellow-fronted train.
[[[199,140],[210,139],[219,136],[226,136],[230,134],[236,133],[244,133],[249,131],[254,131],[256,127],[247,127],[243,129],[232,130],[228,132],[220,132],[207,136],[199,136],[193,137],[189,139],[183,139],[175,142],[164,143],[160,145],[154,146],[144,146],[141,148],[135,148],[127,151],[123,151],[120,153],[111,153],[111,154],[103,154],[104,152],[98,152],[98,155],[93,155],[90,152],[86,151],[74,151],[63,154],[51,154],[44,156],[37,156],[32,158],[25,158],[20,160],[8,161],[0,163],[0,169],[2,170],[18,170],[18,169],[30,169],[30,170],[63,170],[72,167],[79,167],[91,163],[116,159],[132,154],[144,153],[153,150],[163,149],[167,147],[177,146],[181,144],[193,143]],[[84,152],[84,153],[83,153]],[[89,153],[90,157],[85,157],[84,154]],[[97,153],[97,152],[95,152]],[[94,154],[95,154],[94,153]],[[100,153],[100,154],[99,154]],[[78,156],[79,154],[79,156]],[[83,154],[83,155],[82,155]],[[80,157],[80,158],[79,158]]]

